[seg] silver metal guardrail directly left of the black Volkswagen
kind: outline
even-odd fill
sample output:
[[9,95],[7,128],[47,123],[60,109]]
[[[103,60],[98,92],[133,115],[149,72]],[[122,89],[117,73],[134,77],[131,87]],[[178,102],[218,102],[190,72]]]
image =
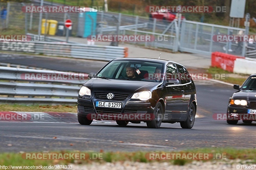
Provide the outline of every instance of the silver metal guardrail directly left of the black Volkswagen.
[[0,67],[0,102],[75,104],[87,76],[84,73]]

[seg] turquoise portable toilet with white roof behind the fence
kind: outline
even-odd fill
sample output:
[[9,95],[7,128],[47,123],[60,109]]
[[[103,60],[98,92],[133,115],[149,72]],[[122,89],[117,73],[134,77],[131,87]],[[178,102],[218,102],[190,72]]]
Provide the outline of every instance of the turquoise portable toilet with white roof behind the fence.
[[83,12],[78,14],[78,27],[76,36],[86,38],[89,35],[95,35],[98,10],[88,7],[79,8],[79,10]]

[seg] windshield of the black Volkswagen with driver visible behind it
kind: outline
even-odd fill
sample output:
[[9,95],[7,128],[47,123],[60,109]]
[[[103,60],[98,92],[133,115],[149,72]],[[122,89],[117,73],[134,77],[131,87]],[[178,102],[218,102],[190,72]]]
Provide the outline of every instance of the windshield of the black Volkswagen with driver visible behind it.
[[163,64],[145,61],[112,61],[96,78],[160,82]]

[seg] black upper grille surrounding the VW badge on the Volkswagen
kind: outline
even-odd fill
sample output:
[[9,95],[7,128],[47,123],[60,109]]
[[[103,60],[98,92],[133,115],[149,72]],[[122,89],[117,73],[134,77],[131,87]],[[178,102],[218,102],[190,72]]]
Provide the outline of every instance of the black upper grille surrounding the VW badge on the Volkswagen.
[[[113,99],[108,99],[107,94],[108,93],[113,93],[114,98]],[[99,100],[116,100],[116,101],[123,101],[125,100],[128,96],[129,93],[118,93],[118,92],[94,92],[94,96],[96,99]]]

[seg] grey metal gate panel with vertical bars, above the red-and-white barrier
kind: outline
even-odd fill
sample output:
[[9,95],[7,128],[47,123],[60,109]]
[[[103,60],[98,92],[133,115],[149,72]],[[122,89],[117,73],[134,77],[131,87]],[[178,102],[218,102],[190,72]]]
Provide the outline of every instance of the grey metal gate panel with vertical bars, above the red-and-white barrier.
[[242,28],[182,21],[180,51],[211,55],[214,51],[242,55],[242,44],[236,42],[213,41],[214,35],[238,35]]

